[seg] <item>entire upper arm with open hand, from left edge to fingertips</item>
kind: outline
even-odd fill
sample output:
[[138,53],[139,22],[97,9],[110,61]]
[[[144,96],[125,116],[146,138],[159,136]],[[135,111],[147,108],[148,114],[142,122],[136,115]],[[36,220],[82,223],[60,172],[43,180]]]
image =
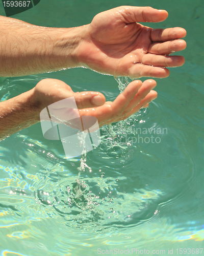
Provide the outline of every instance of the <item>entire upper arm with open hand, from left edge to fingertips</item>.
[[88,25],[47,28],[0,16],[0,76],[23,76],[87,67],[117,76],[167,77],[179,67],[186,42],[183,28],[152,29],[138,22],[162,22],[165,10],[121,6],[97,14]]

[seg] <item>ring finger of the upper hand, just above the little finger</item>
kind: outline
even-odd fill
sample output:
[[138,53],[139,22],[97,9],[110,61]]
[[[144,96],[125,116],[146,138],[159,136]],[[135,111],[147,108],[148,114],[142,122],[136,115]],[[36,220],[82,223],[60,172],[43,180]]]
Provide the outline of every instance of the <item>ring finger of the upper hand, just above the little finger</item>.
[[147,53],[143,55],[142,63],[154,67],[180,67],[184,65],[185,58],[183,56],[163,56]]

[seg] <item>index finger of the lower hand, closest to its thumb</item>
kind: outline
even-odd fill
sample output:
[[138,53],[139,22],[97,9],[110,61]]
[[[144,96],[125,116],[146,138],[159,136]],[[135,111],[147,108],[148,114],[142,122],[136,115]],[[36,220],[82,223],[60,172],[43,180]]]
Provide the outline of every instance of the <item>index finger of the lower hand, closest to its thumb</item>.
[[130,101],[135,97],[135,94],[137,94],[141,86],[142,81],[140,80],[135,80],[129,83],[124,92],[119,94],[112,103],[112,110],[114,115],[121,115],[126,106],[129,105]]

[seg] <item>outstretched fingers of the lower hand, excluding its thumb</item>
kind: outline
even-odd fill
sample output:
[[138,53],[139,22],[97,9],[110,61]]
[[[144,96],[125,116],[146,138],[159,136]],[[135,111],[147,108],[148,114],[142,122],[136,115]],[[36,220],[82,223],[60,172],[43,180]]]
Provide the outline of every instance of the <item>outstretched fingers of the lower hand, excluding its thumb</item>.
[[107,101],[97,108],[79,110],[79,113],[81,116],[95,116],[99,127],[124,120],[141,108],[147,108],[148,103],[157,98],[157,92],[152,91],[156,85],[156,81],[152,79],[143,83],[140,80],[132,81],[113,102]]

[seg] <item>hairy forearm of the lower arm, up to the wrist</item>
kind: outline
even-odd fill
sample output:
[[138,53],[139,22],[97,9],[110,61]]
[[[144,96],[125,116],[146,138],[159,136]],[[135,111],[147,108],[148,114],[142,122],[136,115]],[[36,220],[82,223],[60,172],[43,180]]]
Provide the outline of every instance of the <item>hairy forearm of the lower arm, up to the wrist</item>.
[[34,89],[0,102],[0,141],[40,122],[38,103],[33,101]]

